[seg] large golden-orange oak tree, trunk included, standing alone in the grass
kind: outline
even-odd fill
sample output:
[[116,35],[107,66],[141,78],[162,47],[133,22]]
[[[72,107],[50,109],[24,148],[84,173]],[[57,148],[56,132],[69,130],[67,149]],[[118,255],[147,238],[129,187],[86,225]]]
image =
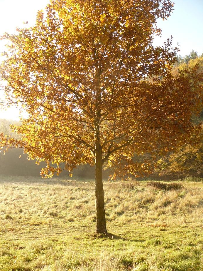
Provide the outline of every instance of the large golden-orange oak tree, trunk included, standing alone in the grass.
[[[152,45],[170,0],[52,0],[36,25],[5,34],[1,64],[7,105],[29,117],[1,135],[1,145],[24,148],[46,161],[42,176],[95,165],[96,232],[107,233],[102,166],[116,175],[150,171],[134,154],[160,154],[187,140],[191,112],[200,108],[197,67],[172,75],[171,39]],[[191,87],[192,84],[192,87]],[[52,164],[56,164],[54,167]]]

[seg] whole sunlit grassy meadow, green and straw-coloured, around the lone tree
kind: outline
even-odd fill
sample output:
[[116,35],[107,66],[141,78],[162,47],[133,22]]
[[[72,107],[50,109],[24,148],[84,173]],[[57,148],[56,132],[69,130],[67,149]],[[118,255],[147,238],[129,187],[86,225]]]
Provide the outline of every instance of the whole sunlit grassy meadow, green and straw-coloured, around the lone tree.
[[202,270],[203,183],[178,190],[104,182],[108,238],[95,236],[94,182],[1,178],[0,270]]

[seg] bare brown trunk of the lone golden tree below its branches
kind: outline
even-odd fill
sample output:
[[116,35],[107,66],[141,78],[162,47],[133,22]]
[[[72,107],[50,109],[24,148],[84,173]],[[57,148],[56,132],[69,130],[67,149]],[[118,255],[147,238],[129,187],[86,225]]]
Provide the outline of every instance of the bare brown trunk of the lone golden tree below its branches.
[[102,181],[102,150],[96,150],[95,161],[96,233],[107,234]]

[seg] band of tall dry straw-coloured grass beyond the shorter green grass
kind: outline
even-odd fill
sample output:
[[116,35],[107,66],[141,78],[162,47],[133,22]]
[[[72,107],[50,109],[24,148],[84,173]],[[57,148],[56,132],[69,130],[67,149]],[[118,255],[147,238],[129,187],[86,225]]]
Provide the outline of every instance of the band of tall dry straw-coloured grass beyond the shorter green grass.
[[[183,225],[191,220],[200,223],[202,190],[178,183],[175,187],[176,190],[165,191],[139,182],[105,182],[106,220],[168,225]],[[94,197],[93,182],[4,184],[0,189],[1,222],[5,226],[63,219],[94,223]]]

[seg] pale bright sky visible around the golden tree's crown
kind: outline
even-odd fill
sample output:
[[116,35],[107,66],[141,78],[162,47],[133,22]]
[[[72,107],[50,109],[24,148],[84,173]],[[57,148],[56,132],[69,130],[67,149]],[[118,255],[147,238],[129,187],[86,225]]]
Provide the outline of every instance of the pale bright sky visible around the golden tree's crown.
[[[44,9],[49,0],[0,0],[0,36],[4,32],[14,33],[16,27],[27,27],[35,24],[36,13]],[[171,35],[173,45],[178,46],[180,54],[185,56],[192,50],[199,55],[203,53],[203,1],[174,0],[174,11],[167,21],[158,20],[162,37],[155,37],[154,45],[161,46]],[[23,22],[28,21],[25,25]],[[0,52],[4,43],[0,41]],[[1,90],[0,90],[1,91]],[[2,93],[0,92],[0,100]],[[18,108],[0,108],[0,118],[19,120]]]

